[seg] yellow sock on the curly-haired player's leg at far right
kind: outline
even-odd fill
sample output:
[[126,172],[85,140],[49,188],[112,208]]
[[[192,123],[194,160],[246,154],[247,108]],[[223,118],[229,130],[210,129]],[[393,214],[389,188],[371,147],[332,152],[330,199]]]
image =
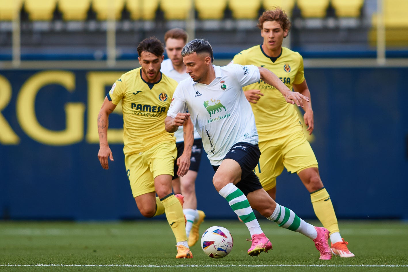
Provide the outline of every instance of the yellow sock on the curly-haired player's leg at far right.
[[331,233],[340,232],[333,204],[326,188],[310,193],[313,209],[323,226]]

